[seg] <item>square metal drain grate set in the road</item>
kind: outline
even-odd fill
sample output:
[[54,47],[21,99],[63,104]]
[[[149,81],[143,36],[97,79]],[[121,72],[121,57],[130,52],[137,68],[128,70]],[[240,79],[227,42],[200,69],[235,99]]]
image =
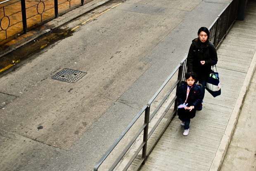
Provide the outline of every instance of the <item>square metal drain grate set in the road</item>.
[[75,83],[78,80],[80,80],[83,76],[85,76],[87,73],[79,70],[72,70],[69,68],[65,68],[59,73],[55,74],[52,79],[69,82],[69,83]]

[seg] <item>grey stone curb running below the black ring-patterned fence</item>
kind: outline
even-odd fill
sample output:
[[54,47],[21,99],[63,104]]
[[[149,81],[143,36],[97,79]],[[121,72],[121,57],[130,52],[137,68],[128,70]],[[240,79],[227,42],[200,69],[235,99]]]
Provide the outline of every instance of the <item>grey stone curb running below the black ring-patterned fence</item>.
[[17,37],[14,40],[11,40],[5,44],[7,48],[0,52],[0,58],[2,56],[5,56],[6,54],[18,49],[19,47],[26,45],[28,42],[31,42],[32,40],[49,33],[50,31],[54,30],[55,28],[58,28],[62,26],[63,24],[77,18],[78,16],[81,16],[85,14],[86,12],[89,12],[92,9],[95,9],[99,7],[100,5],[103,5],[106,2],[109,2],[110,0],[92,0],[91,2],[88,2],[87,4],[84,4],[83,6],[77,7],[76,9],[73,9],[66,14],[63,14],[62,16],[58,16],[57,19],[52,19],[51,21],[43,24],[42,26],[29,31],[28,33],[22,34],[19,37]]

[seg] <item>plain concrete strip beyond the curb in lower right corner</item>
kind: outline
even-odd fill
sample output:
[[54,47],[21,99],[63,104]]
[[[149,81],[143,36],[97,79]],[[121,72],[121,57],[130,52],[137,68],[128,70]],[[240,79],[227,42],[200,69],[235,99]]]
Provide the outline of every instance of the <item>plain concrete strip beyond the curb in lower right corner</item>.
[[251,80],[220,171],[256,170],[256,73]]

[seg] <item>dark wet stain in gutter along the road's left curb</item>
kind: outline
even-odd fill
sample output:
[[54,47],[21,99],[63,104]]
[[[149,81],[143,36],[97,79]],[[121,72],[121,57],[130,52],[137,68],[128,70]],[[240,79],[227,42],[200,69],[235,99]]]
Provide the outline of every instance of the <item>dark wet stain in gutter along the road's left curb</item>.
[[18,49],[10,52],[5,56],[2,56],[0,58],[0,74],[4,73],[9,68],[14,68],[12,66],[19,63],[20,61],[28,59],[31,55],[43,51],[44,47],[53,45],[55,42],[63,40],[66,37],[70,37],[72,35],[73,31],[71,30],[65,30],[60,28],[52,30],[50,33],[47,33],[29,42],[26,45],[19,47]]

